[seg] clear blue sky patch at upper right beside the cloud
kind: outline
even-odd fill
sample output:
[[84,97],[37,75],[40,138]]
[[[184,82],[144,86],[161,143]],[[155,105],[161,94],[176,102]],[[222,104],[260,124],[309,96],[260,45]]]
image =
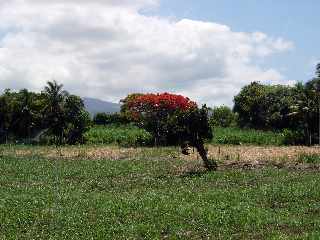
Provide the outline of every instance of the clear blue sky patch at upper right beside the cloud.
[[319,0],[161,0],[162,16],[228,25],[233,31],[261,31],[292,41],[293,50],[262,61],[291,80],[314,76],[320,60]]

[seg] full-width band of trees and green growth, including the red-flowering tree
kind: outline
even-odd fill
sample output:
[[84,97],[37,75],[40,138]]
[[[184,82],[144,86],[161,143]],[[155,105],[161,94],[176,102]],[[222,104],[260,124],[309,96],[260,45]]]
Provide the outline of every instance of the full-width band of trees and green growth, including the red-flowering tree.
[[[127,128],[94,128],[80,97],[48,82],[41,93],[24,89],[6,90],[0,96],[0,141],[25,141],[76,144],[117,142],[126,146],[180,145],[188,154],[195,147],[205,166],[216,164],[207,159],[204,143],[220,144],[320,144],[320,64],[316,77],[295,86],[263,85],[253,82],[234,98],[234,108],[214,109],[198,105],[189,98],[170,93],[130,94],[121,100],[121,113],[98,114],[95,124],[129,124]],[[212,127],[224,129],[213,139]],[[108,132],[109,130],[109,132]],[[143,131],[144,130],[144,131]],[[270,132],[280,132],[277,137]],[[87,133],[86,133],[87,132]],[[104,133],[102,133],[104,132]]]

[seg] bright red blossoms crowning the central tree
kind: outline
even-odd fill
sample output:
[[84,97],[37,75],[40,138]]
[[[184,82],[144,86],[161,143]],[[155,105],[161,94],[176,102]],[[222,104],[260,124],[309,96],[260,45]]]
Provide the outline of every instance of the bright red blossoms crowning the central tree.
[[196,108],[197,104],[193,101],[190,101],[189,98],[170,94],[170,93],[161,93],[161,94],[144,94],[137,96],[128,103],[129,109],[135,112],[143,111],[175,111],[182,110],[186,111],[192,108]]

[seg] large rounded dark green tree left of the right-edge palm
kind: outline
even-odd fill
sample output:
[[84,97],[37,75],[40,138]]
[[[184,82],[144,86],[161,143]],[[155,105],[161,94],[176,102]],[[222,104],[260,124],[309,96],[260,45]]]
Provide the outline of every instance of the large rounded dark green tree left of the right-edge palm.
[[238,124],[264,130],[290,128],[295,122],[290,121],[288,114],[297,97],[294,87],[253,82],[234,98]]

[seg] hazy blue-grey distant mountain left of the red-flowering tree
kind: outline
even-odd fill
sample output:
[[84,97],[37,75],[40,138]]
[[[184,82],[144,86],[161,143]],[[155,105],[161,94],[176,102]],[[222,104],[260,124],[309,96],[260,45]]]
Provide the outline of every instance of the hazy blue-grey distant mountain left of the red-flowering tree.
[[95,98],[83,98],[87,111],[94,116],[98,112],[116,113],[120,112],[121,105],[118,103],[106,102]]

